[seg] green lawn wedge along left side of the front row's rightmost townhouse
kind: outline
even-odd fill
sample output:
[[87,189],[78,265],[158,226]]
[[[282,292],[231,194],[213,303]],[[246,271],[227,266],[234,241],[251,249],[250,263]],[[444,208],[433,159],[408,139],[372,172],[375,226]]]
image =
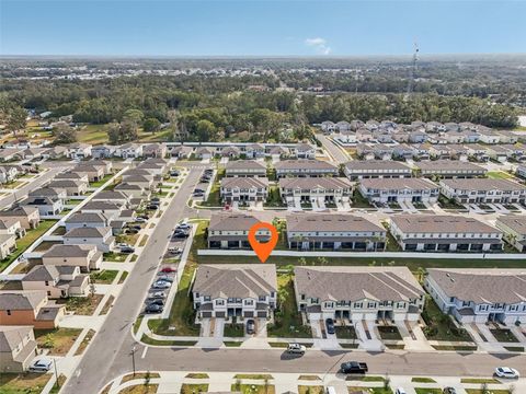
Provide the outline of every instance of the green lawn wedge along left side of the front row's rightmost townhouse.
[[424,327],[424,335],[430,340],[472,341],[468,332],[457,328],[451,318],[444,314],[431,298],[426,298],[422,318],[427,324],[427,327]]

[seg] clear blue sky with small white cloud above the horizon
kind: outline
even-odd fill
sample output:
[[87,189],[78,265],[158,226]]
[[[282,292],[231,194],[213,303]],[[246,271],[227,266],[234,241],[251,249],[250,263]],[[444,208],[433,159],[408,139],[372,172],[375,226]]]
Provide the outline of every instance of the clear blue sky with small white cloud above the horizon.
[[1,55],[526,53],[525,1],[0,0]]

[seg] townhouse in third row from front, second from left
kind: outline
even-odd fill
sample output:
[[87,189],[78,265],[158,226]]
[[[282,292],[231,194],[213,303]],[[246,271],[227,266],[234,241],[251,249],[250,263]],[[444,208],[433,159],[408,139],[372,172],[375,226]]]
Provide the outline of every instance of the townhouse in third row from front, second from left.
[[279,178],[279,196],[283,201],[348,201],[353,195],[353,184],[344,177],[285,177]]

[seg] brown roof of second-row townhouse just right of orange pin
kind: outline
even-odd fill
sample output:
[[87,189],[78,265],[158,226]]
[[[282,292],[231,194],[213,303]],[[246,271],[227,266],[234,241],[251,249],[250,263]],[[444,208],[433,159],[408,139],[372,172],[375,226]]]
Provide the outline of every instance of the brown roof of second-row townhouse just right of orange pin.
[[386,229],[354,215],[298,213],[287,217],[287,231],[375,231]]

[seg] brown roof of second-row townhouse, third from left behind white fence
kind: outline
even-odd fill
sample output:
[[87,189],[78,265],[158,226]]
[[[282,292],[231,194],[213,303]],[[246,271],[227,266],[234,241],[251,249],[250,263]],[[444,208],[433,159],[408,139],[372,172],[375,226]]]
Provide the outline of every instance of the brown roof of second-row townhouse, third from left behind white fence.
[[393,222],[404,233],[496,233],[480,220],[458,215],[397,215]]

